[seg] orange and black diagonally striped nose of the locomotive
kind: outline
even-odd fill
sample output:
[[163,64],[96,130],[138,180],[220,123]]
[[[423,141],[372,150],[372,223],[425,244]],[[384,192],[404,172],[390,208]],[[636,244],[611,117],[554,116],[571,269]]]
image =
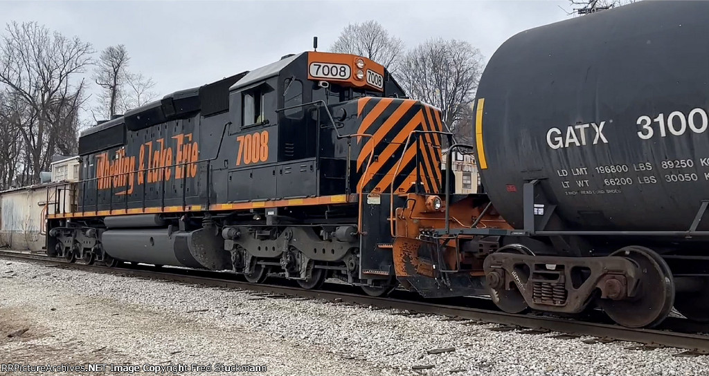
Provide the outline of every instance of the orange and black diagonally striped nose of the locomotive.
[[[440,110],[420,101],[360,98],[357,137],[361,149],[357,190],[363,193],[439,193],[441,186]],[[418,132],[417,132],[418,131]]]

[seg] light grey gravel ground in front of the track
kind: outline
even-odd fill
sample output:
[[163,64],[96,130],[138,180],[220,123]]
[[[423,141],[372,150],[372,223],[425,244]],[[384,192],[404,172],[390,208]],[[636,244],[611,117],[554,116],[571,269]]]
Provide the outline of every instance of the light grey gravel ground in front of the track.
[[[709,375],[709,356],[676,357],[676,348],[259,295],[0,258],[0,364],[212,366],[177,375]],[[215,372],[218,364],[267,371]]]

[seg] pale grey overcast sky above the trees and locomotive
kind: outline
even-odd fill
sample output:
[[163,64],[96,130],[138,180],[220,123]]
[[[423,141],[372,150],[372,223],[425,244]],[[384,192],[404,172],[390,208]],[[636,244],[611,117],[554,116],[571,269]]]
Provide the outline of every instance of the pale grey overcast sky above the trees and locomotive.
[[406,47],[456,38],[487,60],[515,33],[568,19],[560,6],[570,9],[565,0],[0,0],[0,23],[38,21],[97,51],[122,43],[130,69],[151,76],[162,97],[311,50],[313,35],[326,50],[345,25],[370,19]]

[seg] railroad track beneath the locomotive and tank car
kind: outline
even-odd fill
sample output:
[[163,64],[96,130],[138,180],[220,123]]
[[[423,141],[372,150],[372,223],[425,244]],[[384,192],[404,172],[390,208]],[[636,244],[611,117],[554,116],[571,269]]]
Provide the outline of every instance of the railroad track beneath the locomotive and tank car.
[[615,324],[574,321],[571,319],[534,316],[529,314],[508,314],[495,309],[480,309],[476,307],[461,307],[452,304],[416,301],[406,294],[399,294],[403,299],[395,297],[370,297],[368,295],[352,292],[354,290],[348,285],[330,284],[329,287],[332,287],[332,291],[305,290],[301,287],[290,285],[241,282],[224,278],[225,273],[213,271],[167,267],[156,270],[155,268],[141,265],[128,267],[128,264],[123,264],[125,267],[119,265],[115,268],[108,268],[106,266],[85,265],[78,262],[69,263],[38,253],[18,251],[0,250],[0,258],[21,259],[33,263],[52,266],[59,265],[66,268],[77,268],[95,273],[111,273],[196,285],[251,290],[274,296],[307,297],[316,300],[326,300],[328,302],[398,309],[420,314],[445,316],[451,320],[473,321],[473,323],[478,321],[479,323],[501,324],[500,327],[492,329],[497,331],[518,330],[527,334],[547,334],[550,331],[557,331],[563,334],[553,335],[553,337],[562,339],[579,338],[580,336],[595,337],[584,341],[586,343],[629,341],[637,343],[637,346],[632,346],[632,348],[640,350],[654,350],[655,348],[661,347],[683,349],[683,351],[674,354],[678,356],[709,355],[709,334],[696,334],[698,331],[709,331],[709,326],[688,324],[688,321],[683,319],[667,319],[667,324],[663,324],[659,329],[632,329]]

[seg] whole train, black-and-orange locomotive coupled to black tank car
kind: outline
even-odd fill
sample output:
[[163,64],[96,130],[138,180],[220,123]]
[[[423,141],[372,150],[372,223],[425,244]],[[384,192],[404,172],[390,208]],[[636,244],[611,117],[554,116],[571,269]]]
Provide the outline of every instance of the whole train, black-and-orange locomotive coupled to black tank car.
[[[48,253],[707,321],[707,15],[641,1],[514,35],[481,76],[472,146],[355,55],[172,93],[82,132]],[[451,193],[456,150],[486,193]]]

